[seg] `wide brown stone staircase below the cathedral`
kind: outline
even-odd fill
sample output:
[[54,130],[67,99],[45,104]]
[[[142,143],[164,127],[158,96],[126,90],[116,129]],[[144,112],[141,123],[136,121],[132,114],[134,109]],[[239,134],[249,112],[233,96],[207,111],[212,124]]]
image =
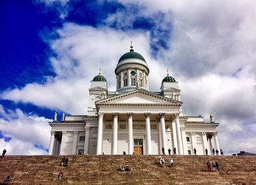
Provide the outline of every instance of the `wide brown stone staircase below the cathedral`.
[[[0,182],[9,184],[246,184],[256,185],[256,156],[164,156],[174,167],[160,167],[158,156],[6,156],[0,159]],[[219,162],[220,172],[206,171],[207,161]],[[129,165],[132,171],[118,171]],[[63,170],[64,178],[59,180]]]

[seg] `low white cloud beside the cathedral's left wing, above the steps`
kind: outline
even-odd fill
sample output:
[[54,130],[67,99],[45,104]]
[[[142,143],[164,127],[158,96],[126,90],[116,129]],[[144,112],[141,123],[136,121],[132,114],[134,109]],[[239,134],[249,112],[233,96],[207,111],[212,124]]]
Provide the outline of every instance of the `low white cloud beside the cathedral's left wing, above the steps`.
[[50,142],[48,121],[50,119],[25,114],[20,109],[4,110],[0,105],[0,130],[4,136],[0,139],[1,148],[6,148],[7,154],[48,154],[44,149]]

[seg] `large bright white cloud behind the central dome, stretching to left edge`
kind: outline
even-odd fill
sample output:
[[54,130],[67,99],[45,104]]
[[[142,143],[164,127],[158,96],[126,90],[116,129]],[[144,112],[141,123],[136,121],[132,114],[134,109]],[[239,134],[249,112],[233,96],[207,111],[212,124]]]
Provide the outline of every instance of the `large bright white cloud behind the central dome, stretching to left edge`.
[[98,75],[99,68],[110,90],[116,90],[114,69],[118,58],[129,51],[131,39],[136,40],[135,50],[145,53],[145,58],[150,60],[146,32],[94,29],[67,23],[57,33],[59,39],[48,41],[56,56],[50,58],[56,77],[48,77],[44,84],[29,83],[20,89],[4,91],[2,99],[83,114],[89,105],[90,81]]

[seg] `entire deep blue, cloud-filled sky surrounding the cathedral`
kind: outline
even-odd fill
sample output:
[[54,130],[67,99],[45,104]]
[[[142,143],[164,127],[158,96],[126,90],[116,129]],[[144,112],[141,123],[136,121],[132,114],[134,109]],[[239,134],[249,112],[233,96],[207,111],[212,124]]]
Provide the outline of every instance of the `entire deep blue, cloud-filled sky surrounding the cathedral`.
[[[227,153],[256,152],[255,1],[0,2],[0,146],[47,154],[53,112],[86,114],[99,68],[114,69],[129,42],[150,71],[180,82],[185,116],[211,113]],[[230,138],[232,142],[230,143]],[[0,148],[0,149],[1,149]]]

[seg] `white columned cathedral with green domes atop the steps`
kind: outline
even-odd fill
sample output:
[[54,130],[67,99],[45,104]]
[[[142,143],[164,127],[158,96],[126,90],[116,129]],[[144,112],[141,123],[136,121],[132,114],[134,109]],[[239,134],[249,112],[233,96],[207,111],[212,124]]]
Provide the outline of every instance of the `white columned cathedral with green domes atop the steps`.
[[91,80],[88,115],[57,115],[50,122],[50,155],[67,154],[212,154],[219,150],[218,123],[210,116],[183,116],[181,89],[168,72],[161,91],[148,90],[149,69],[145,58],[131,45],[115,69],[116,91],[108,91],[105,77]]

